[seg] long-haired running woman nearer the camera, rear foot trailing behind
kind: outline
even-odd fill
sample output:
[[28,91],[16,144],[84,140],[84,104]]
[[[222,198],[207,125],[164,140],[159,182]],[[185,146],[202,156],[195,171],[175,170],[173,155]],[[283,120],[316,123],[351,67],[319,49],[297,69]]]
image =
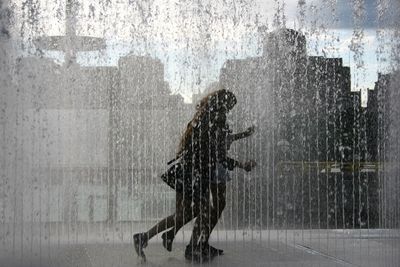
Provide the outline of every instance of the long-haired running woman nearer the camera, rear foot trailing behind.
[[175,214],[161,220],[149,231],[133,236],[135,250],[144,260],[143,248],[153,236],[172,227],[175,227],[176,232],[176,229],[194,217],[197,219],[185,257],[199,260],[208,258],[210,253],[218,253],[218,250],[208,245],[212,230],[212,224],[207,222],[210,221],[207,216],[211,212],[211,179],[218,164],[229,170],[234,167],[249,167],[248,163],[242,164],[226,156],[226,113],[235,104],[235,95],[221,89],[204,97],[197,106],[196,114],[186,127],[177,153],[177,158],[184,165],[185,174],[182,186],[176,190]]

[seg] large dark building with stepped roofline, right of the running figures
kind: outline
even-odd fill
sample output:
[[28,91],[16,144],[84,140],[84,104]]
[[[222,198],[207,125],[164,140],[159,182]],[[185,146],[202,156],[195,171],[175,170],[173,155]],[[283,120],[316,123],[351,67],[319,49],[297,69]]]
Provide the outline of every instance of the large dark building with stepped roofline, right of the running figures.
[[[383,83],[377,85],[386,88]],[[262,212],[269,215],[260,222],[265,226],[379,226],[375,144],[382,134],[373,132],[383,128],[364,117],[383,113],[374,110],[373,98],[361,107],[360,92],[351,91],[350,68],[341,58],[308,56],[303,34],[279,29],[265,35],[262,56],[226,61],[219,86],[238,95],[236,128],[256,121],[262,133],[238,147],[239,155],[255,159],[261,169],[253,183],[238,187],[233,201],[260,185],[266,192],[259,200],[262,210],[243,211],[241,224]],[[382,94],[384,88],[374,92]]]

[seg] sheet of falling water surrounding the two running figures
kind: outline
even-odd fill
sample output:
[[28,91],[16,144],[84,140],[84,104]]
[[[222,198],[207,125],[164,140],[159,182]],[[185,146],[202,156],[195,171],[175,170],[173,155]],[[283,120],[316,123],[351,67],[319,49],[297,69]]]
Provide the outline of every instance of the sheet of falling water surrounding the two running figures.
[[[230,173],[218,261],[397,266],[399,14],[397,0],[1,1],[0,265],[136,264],[132,235],[175,211],[160,175],[196,104],[226,88],[232,130],[256,129],[229,156],[257,166]],[[184,264],[192,226],[148,259]]]

